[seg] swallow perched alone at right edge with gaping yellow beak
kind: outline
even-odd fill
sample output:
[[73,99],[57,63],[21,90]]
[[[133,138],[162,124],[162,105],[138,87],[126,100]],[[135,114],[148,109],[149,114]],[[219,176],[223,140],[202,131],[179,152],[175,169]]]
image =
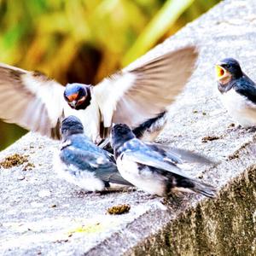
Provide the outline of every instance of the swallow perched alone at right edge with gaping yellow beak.
[[224,107],[239,125],[256,125],[256,84],[242,72],[235,59],[219,61],[215,68]]

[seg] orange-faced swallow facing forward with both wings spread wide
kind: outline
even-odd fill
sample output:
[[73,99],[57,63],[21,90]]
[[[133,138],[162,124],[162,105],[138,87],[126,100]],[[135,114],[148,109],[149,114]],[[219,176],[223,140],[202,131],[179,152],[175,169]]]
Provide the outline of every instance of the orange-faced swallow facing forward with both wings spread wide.
[[187,46],[126,67],[96,86],[66,88],[42,73],[0,64],[0,119],[60,139],[61,119],[75,115],[98,143],[113,123],[135,129],[165,112],[189,80],[197,56],[195,46]]

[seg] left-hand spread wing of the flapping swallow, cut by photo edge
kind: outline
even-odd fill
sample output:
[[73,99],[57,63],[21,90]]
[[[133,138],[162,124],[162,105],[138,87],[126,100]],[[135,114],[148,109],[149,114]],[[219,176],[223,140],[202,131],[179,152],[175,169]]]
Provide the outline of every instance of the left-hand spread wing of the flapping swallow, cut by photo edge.
[[0,119],[60,138],[64,89],[42,73],[0,63]]

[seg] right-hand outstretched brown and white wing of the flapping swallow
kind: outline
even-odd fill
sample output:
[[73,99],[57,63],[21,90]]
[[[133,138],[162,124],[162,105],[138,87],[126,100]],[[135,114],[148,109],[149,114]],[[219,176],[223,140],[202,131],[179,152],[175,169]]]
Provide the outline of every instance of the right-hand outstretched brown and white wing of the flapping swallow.
[[197,56],[195,47],[189,46],[104,79],[94,88],[103,126],[113,122],[134,128],[163,112],[183,90]]

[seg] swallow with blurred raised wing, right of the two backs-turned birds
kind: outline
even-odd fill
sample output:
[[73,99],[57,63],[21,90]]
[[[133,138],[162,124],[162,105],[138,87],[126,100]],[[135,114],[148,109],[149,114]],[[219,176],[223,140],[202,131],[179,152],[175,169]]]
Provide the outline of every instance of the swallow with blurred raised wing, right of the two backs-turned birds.
[[168,196],[174,191],[214,196],[212,186],[189,177],[178,167],[185,160],[208,162],[203,156],[183,149],[168,150],[167,146],[157,143],[143,143],[124,124],[113,126],[111,143],[120,174],[137,188],[160,196]]

